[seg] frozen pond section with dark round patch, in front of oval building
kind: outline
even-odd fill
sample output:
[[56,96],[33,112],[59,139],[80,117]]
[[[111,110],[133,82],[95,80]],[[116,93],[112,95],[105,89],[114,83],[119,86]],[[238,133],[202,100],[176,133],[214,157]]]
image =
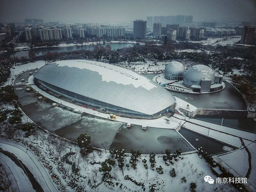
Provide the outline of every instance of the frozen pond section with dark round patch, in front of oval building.
[[132,125],[130,129],[122,129],[116,139],[114,139],[112,148],[124,148],[127,153],[132,149],[140,150],[142,154],[165,154],[169,149],[174,152],[181,148],[182,152],[194,151],[175,130],[157,129],[147,127],[144,131],[139,125]]

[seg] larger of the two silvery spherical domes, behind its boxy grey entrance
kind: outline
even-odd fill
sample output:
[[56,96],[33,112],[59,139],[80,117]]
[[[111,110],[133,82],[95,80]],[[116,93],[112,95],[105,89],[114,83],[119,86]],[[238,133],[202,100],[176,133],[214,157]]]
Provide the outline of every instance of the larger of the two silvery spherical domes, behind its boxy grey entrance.
[[195,65],[184,74],[183,84],[187,87],[200,86],[202,79],[210,80],[210,84],[214,84],[214,71],[205,65]]

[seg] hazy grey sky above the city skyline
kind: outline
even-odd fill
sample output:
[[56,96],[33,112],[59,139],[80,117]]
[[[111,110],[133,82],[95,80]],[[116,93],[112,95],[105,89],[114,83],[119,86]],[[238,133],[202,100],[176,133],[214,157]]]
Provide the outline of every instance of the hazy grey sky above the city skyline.
[[256,24],[256,0],[0,0],[0,22],[114,23],[146,16],[193,15],[194,21]]

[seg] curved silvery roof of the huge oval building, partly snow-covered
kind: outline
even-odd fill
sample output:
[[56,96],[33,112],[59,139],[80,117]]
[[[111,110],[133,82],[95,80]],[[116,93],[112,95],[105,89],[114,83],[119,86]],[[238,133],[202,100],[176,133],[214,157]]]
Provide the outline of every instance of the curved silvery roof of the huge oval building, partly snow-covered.
[[148,115],[158,113],[176,101],[153,80],[97,61],[56,61],[40,68],[34,77],[53,86]]

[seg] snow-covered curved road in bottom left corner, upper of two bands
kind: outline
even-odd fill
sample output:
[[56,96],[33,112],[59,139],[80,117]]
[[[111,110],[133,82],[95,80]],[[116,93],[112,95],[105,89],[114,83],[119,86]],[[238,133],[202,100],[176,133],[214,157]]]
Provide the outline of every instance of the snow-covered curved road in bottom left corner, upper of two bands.
[[58,191],[55,184],[50,179],[48,170],[41,164],[34,153],[27,150],[27,148],[21,144],[5,139],[0,139],[0,147],[4,151],[12,152],[17,158],[30,168],[30,172],[37,179],[44,191]]

